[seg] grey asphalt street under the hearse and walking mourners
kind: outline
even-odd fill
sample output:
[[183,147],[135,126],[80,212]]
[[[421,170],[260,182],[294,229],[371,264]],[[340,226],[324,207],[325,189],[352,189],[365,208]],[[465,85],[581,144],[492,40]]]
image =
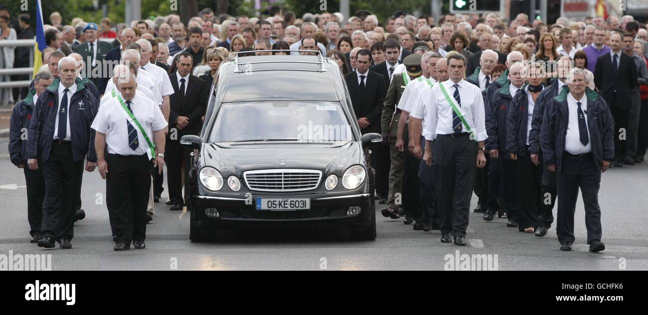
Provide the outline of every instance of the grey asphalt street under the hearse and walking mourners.
[[[588,252],[580,197],[572,252],[559,250],[555,226],[538,238],[507,228],[504,218],[487,223],[481,213],[470,213],[469,246],[443,244],[439,231],[414,231],[402,219],[384,218],[378,204],[375,241],[349,241],[348,233],[335,230],[236,230],[222,232],[218,243],[191,243],[189,213],[171,212],[163,202],[147,226],[147,248],[114,252],[97,171],[84,173],[86,219],[75,224],[73,249],[44,250],[29,243],[24,186],[23,171],[10,163],[7,139],[0,139],[0,254],[51,254],[52,270],[444,270],[446,255],[456,250],[497,255],[498,270],[648,270],[647,163],[603,174],[606,250],[597,254]],[[471,209],[476,202],[473,196]]]

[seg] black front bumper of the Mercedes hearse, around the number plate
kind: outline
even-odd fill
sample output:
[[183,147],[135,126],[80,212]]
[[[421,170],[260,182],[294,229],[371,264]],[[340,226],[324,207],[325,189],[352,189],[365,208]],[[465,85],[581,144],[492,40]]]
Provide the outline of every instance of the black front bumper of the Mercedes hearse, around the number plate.
[[[310,210],[256,210],[257,197],[310,198]],[[347,215],[349,207],[360,207],[360,213]],[[205,209],[215,208],[218,218],[207,217]],[[345,228],[364,230],[373,223],[375,203],[369,193],[336,194],[235,194],[192,196],[192,224],[202,232],[229,228]]]

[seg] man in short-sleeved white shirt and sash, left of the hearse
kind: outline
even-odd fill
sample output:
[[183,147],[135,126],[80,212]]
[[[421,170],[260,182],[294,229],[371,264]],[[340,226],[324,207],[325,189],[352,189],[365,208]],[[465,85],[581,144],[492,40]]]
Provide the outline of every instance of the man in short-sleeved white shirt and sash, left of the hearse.
[[162,171],[167,122],[156,103],[137,96],[135,74],[120,77],[117,88],[121,95],[104,103],[92,124],[97,164],[106,179],[114,250],[129,250],[131,242],[135,249],[143,249],[150,168]]

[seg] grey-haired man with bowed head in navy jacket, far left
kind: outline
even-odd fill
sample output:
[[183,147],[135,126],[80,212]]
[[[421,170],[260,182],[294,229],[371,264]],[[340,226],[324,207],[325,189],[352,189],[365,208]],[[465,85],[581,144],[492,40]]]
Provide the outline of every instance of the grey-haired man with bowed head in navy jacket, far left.
[[[17,168],[23,169],[25,173],[25,184],[27,185],[27,221],[29,222],[30,243],[37,243],[41,239],[41,220],[43,218],[43,199],[45,198],[45,182],[41,169],[32,170],[27,167],[27,154],[25,147],[29,140],[29,133],[23,133],[29,129],[29,123],[38,96],[49,87],[54,81],[54,76],[49,71],[41,71],[34,76],[34,87],[27,97],[14,106],[10,118],[9,127],[9,157]],[[26,135],[27,138],[24,138]]]

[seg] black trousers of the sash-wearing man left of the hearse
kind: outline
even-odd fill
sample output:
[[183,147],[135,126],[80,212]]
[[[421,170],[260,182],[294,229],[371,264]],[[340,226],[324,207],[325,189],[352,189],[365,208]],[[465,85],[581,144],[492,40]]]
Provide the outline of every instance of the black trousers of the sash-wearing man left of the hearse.
[[147,155],[115,154],[109,154],[106,162],[106,190],[110,191],[108,212],[115,243],[144,241],[152,163]]

